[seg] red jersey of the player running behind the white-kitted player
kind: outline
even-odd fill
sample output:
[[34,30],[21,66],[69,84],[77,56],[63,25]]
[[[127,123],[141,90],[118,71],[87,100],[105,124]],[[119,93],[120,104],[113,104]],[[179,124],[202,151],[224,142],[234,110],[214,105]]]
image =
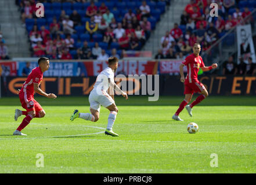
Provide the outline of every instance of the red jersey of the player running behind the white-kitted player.
[[27,94],[26,97],[34,95],[34,83],[42,82],[43,73],[41,68],[37,67],[32,69],[31,73],[28,75],[26,82],[23,83],[23,87],[20,92]]

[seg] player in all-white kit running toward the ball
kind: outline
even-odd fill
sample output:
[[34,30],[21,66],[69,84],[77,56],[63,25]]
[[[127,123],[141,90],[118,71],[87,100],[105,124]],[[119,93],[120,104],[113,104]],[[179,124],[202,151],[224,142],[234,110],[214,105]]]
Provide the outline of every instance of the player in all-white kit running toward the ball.
[[[104,69],[97,76],[96,82],[93,86],[93,90],[89,95],[90,113],[80,113],[77,109],[71,114],[70,120],[73,121],[77,117],[84,120],[96,122],[99,120],[100,105],[109,109],[109,118],[107,119],[107,129],[105,130],[106,135],[119,136],[113,132],[113,124],[117,116],[117,106],[114,102],[114,91],[116,90],[121,93],[125,99],[128,99],[127,94],[122,91],[117,84],[114,82],[114,73],[117,70],[118,59],[117,57],[109,58],[109,66]],[[110,89],[109,89],[110,88]],[[107,93],[109,91],[109,94]]]

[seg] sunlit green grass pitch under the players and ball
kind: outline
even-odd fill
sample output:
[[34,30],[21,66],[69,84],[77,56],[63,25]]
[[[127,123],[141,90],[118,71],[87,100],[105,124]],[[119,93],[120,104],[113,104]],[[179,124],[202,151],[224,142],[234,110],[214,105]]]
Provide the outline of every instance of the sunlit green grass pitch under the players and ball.
[[[0,99],[0,173],[256,172],[255,97],[208,97],[193,117],[184,109],[183,122],[171,119],[183,97],[116,97],[116,138],[103,133],[109,115],[103,107],[97,123],[70,121],[75,108],[88,112],[88,97],[36,99],[46,116],[23,129],[28,136],[12,135],[24,118],[13,119],[19,98]],[[199,125],[197,134],[186,131],[190,122]],[[43,168],[36,166],[38,153]],[[210,165],[217,160],[212,153],[218,167]]]

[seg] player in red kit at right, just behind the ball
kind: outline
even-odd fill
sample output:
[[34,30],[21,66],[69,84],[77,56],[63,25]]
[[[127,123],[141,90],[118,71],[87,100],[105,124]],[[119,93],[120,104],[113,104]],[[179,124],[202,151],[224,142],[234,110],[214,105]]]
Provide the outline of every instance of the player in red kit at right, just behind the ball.
[[[208,97],[208,92],[205,89],[204,85],[199,82],[197,79],[197,73],[199,68],[203,71],[210,71],[211,69],[215,69],[218,65],[212,64],[211,66],[204,66],[204,62],[201,56],[199,56],[201,50],[201,46],[199,43],[195,43],[193,46],[193,54],[185,58],[185,61],[179,66],[179,72],[181,73],[181,82],[185,84],[185,99],[179,105],[178,110],[172,116],[172,119],[177,121],[183,121],[179,117],[179,113],[185,108],[188,110],[189,116],[192,116],[192,108],[193,106],[200,103],[204,98]],[[186,66],[188,68],[188,75],[186,79],[183,73],[183,67]],[[190,105],[187,105],[193,96],[194,92],[199,92],[201,95],[197,97]]]

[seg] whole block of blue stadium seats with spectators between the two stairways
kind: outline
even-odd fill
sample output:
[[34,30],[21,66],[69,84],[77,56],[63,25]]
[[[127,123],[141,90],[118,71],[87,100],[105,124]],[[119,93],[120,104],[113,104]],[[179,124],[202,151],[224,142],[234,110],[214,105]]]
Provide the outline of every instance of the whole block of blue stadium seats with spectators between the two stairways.
[[[99,47],[106,50],[107,54],[111,54],[112,49],[117,49],[117,53],[121,53],[122,49],[142,49],[157,21],[160,21],[160,15],[165,12],[166,6],[170,5],[170,0],[18,1],[21,19],[31,42],[31,56],[39,57],[43,54],[49,58],[61,58],[64,50],[70,50],[73,59],[81,56],[77,51],[82,51],[82,43],[85,40],[90,49],[98,42]],[[37,2],[44,4],[43,18],[35,16]],[[121,38],[122,34],[114,34],[118,23],[121,23],[121,28],[125,31],[125,44],[120,42],[120,39],[124,39]],[[131,26],[128,28],[129,24]],[[69,34],[74,40],[73,47],[67,47],[68,44],[63,42]],[[65,46],[66,49],[63,50]]]

